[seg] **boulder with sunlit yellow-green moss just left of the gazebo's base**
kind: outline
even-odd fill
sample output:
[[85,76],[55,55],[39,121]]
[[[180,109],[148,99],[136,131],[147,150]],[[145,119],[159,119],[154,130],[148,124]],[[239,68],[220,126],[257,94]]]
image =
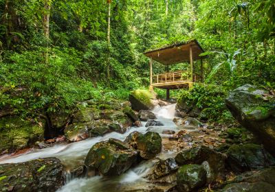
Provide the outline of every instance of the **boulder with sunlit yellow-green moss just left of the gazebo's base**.
[[153,109],[153,94],[150,91],[138,89],[132,91],[129,95],[129,101],[133,110],[150,110]]

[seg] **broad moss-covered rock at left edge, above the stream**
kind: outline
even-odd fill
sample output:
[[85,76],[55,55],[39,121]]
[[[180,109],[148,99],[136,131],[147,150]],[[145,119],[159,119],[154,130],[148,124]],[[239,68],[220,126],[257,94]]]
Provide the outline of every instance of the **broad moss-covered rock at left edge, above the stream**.
[[45,121],[23,120],[19,117],[0,119],[0,154],[7,154],[43,141]]

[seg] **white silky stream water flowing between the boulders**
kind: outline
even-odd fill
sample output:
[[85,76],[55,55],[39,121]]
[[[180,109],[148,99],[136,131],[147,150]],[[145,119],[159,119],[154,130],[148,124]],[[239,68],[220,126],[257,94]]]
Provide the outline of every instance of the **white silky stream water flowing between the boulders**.
[[[133,167],[126,171],[126,173],[115,178],[102,178],[101,176],[95,176],[91,178],[71,178],[69,174],[69,169],[72,169],[74,165],[82,165],[85,156],[89,152],[89,149],[100,141],[106,141],[110,138],[120,139],[124,141],[126,136],[131,132],[138,131],[145,133],[148,130],[151,132],[158,132],[160,136],[168,137],[168,134],[162,134],[164,130],[175,130],[177,132],[177,126],[173,123],[173,118],[175,117],[175,104],[168,106],[156,107],[153,112],[157,117],[157,121],[161,121],[164,126],[150,127],[146,128],[146,122],[142,122],[142,127],[129,128],[124,134],[118,132],[111,132],[105,134],[104,136],[98,136],[84,141],[79,141],[76,143],[55,145],[54,147],[47,147],[45,149],[32,149],[26,154],[21,154],[18,156],[4,156],[0,158],[0,164],[3,163],[21,163],[28,160],[36,158],[45,157],[56,157],[61,160],[63,165],[67,167],[67,182],[59,191],[93,191],[93,192],[103,192],[103,191],[118,191],[122,189],[144,189],[143,187],[148,185],[143,176],[153,167],[155,160],[147,160],[137,167]],[[157,156],[158,158],[165,159],[172,156],[173,152],[162,152]]]

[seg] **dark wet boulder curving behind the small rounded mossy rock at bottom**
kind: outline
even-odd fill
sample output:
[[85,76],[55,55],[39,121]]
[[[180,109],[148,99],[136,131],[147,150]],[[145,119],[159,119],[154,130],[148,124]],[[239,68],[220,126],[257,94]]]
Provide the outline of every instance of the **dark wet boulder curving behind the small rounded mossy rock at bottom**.
[[175,157],[179,165],[202,164],[207,171],[207,182],[225,179],[225,156],[206,146],[192,147],[182,150]]

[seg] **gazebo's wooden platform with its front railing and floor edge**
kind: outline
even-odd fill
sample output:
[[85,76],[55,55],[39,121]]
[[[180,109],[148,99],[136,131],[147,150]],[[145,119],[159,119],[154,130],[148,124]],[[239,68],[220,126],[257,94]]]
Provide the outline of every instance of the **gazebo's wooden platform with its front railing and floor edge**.
[[177,89],[191,87],[193,82],[190,71],[175,71],[152,76],[152,87]]

